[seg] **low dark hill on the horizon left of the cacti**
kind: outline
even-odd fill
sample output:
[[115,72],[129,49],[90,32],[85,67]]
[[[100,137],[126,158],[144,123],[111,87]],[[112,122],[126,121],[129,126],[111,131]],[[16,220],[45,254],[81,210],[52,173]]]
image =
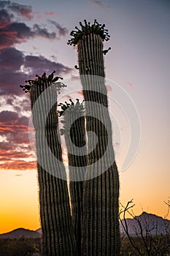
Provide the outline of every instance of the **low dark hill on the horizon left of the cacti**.
[[0,239],[6,239],[6,238],[39,238],[41,237],[41,234],[33,231],[33,230],[26,230],[25,228],[18,228],[16,230],[12,230],[9,233],[4,233],[0,235]]

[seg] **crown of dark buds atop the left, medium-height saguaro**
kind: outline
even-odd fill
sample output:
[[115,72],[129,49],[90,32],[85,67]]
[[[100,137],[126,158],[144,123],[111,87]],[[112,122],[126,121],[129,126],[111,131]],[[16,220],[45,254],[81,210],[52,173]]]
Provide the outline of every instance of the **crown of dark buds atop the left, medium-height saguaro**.
[[58,79],[63,79],[63,78],[61,78],[59,76],[54,78],[54,73],[55,73],[55,71],[53,71],[50,75],[48,75],[48,77],[46,76],[45,72],[42,74],[41,77],[39,75],[36,75],[35,79],[26,80],[25,82],[28,84],[25,84],[23,86],[20,85],[20,88],[22,88],[23,91],[25,91],[27,93],[28,91],[30,91],[31,86],[34,86],[34,85],[41,86],[44,83],[47,84],[47,86],[50,86],[53,83],[56,86],[58,94],[60,94],[61,88],[66,87],[66,85],[64,83],[57,82]]

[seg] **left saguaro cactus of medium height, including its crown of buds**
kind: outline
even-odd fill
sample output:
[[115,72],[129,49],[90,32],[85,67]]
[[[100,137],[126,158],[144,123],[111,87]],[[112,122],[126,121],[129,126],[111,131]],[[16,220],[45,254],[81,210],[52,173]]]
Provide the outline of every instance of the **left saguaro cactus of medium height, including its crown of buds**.
[[[42,255],[75,256],[76,241],[72,229],[66,170],[62,163],[61,144],[58,140],[56,113],[56,90],[64,85],[58,82],[56,89],[53,82],[59,77],[53,78],[53,73],[48,78],[45,73],[41,78],[36,75],[35,80],[28,80],[28,85],[20,87],[30,92],[36,131]],[[58,165],[55,159],[58,159]]]

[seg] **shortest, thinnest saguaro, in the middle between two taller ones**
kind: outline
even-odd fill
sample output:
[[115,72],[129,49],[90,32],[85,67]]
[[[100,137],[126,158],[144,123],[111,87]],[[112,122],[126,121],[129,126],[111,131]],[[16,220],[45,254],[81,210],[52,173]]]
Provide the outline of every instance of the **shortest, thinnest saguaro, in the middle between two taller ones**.
[[[82,191],[87,167],[85,111],[83,102],[80,103],[79,99],[77,99],[77,103],[75,104],[72,99],[69,100],[69,103],[65,102],[65,104],[59,104],[61,110],[58,110],[58,114],[63,117],[61,121],[63,124],[61,134],[65,136],[68,151],[69,192],[72,206],[72,222],[77,242],[77,255],[82,256]],[[74,170],[74,167],[76,167],[76,170]]]

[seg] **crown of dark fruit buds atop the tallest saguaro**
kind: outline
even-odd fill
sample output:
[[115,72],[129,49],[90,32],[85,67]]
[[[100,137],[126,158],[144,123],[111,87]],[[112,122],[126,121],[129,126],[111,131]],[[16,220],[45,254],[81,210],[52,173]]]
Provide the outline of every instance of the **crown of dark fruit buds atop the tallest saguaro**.
[[103,41],[109,40],[110,36],[109,36],[108,29],[104,29],[105,24],[101,25],[96,20],[94,20],[94,23],[92,25],[90,25],[90,22],[87,22],[86,20],[84,20],[84,21],[85,21],[85,25],[82,25],[82,23],[80,22],[81,28],[79,29],[76,26],[75,29],[77,31],[73,30],[70,33],[72,38],[68,40],[68,42],[67,42],[68,45],[74,45],[74,46],[77,45],[77,43],[79,42],[80,39],[84,39],[90,33],[98,34]]

